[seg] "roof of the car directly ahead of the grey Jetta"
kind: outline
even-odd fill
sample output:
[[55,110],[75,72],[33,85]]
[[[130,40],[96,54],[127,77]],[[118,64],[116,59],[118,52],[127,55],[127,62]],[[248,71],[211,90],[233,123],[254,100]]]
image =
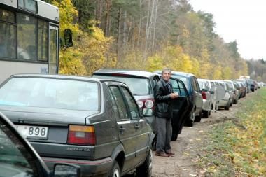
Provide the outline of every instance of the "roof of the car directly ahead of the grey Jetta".
[[97,73],[118,73],[118,74],[125,74],[130,76],[140,76],[140,77],[146,77],[149,78],[151,76],[159,76],[158,73],[152,73],[148,71],[139,71],[139,70],[128,70],[128,69],[99,69],[94,72],[94,74],[97,75]]

